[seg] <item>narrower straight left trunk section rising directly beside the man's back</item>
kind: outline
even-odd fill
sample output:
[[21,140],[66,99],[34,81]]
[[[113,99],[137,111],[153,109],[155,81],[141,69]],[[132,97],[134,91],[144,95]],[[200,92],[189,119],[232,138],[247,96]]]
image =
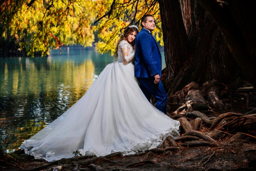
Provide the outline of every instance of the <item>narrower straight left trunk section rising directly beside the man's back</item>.
[[[188,54],[190,53],[189,41],[182,19],[179,0],[159,0],[159,6],[165,44],[166,70],[168,71],[165,81],[169,84],[188,59]],[[170,46],[171,48],[169,48]],[[172,60],[169,60],[170,58]]]

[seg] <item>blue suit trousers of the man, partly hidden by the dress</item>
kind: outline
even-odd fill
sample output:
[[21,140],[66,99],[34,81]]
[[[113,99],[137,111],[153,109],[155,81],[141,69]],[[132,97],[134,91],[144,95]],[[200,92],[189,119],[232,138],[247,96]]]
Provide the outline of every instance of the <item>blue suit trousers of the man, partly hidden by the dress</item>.
[[151,95],[154,96],[156,98],[156,108],[166,114],[167,94],[162,82],[159,81],[158,84],[154,84],[154,77],[137,77],[137,79],[140,82],[140,88],[148,101],[150,101]]

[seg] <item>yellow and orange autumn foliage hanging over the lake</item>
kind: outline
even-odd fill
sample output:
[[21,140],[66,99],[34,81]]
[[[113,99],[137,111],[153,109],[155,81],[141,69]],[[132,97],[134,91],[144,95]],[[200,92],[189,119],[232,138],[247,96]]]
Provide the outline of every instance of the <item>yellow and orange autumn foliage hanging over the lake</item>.
[[4,0],[1,4],[2,41],[15,40],[27,55],[49,54],[49,48],[78,44],[100,53],[114,53],[122,30],[140,26],[144,14],[156,20],[154,35],[163,45],[157,0]]

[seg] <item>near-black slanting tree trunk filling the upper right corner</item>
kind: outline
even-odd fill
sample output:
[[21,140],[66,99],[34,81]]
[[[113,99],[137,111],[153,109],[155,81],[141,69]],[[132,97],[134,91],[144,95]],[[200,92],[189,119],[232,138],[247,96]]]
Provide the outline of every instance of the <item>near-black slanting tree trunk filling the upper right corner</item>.
[[256,87],[256,34],[253,27],[256,1],[198,1],[219,26],[248,82]]

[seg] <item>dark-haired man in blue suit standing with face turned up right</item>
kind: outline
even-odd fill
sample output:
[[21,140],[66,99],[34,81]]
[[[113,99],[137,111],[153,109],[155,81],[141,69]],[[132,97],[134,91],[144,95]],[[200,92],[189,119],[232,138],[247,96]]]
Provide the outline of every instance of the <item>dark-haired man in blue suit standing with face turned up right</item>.
[[150,101],[153,95],[156,98],[156,108],[166,114],[167,94],[160,81],[162,59],[156,40],[151,34],[155,29],[153,16],[144,15],[141,27],[135,39],[135,77],[146,98]]

